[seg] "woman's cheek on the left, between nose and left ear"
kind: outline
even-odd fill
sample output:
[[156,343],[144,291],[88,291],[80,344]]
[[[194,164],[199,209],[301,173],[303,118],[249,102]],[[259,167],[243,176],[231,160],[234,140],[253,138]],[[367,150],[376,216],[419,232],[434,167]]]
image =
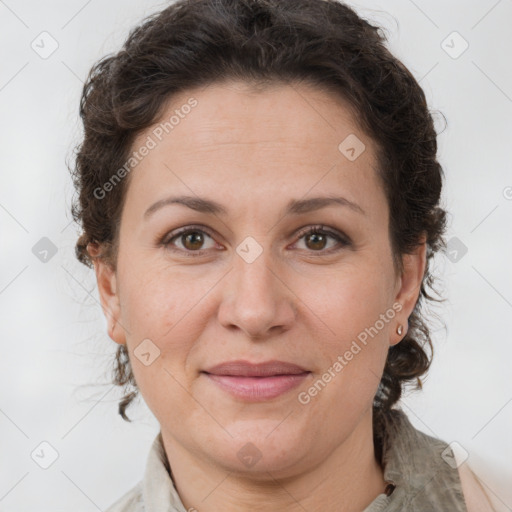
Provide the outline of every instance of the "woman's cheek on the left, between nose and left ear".
[[[186,270],[177,272],[161,263],[146,263],[140,268],[132,265],[124,270],[120,274],[121,323],[134,376],[151,401],[159,389],[172,387],[171,375],[183,384],[192,377],[187,365],[208,321],[208,291],[216,280],[211,276],[194,279]],[[151,357],[146,359],[154,357],[154,362],[146,366],[139,355],[148,351]]]

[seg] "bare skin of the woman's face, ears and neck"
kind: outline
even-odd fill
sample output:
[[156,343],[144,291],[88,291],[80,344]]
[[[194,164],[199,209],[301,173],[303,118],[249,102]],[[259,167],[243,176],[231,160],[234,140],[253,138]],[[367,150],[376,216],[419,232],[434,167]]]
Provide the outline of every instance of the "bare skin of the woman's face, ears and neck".
[[[252,91],[225,82],[175,96],[162,118],[190,97],[198,105],[130,174],[117,268],[95,259],[109,335],[128,347],[186,509],[360,511],[385,489],[372,402],[389,346],[406,334],[425,244],[403,256],[397,275],[375,146],[338,96],[305,84]],[[338,150],[349,134],[366,146],[355,161]],[[144,218],[156,201],[181,194],[215,200],[228,214],[174,204]],[[346,206],[283,213],[292,199],[327,195],[353,201],[364,215]],[[161,243],[198,224],[202,243]],[[317,224],[349,245],[298,236]],[[251,263],[236,252],[248,236],[262,249]],[[203,254],[191,256],[198,248]],[[299,403],[298,394],[393,304],[401,306],[394,318]],[[144,339],[160,350],[149,366],[133,354]],[[234,359],[284,360],[311,374],[277,398],[247,403],[201,373]],[[251,467],[237,456],[249,442],[261,454]]]

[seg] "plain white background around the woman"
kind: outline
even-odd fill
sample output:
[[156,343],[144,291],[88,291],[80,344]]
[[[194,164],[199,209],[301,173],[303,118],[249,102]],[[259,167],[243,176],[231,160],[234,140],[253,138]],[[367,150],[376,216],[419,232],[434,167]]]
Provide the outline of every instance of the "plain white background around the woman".
[[[512,510],[512,1],[350,4],[387,28],[392,51],[447,118],[439,155],[448,239],[467,247],[457,262],[437,260],[447,300],[433,313],[446,328],[434,324],[434,364],[403,408],[424,432],[457,441],[498,509]],[[129,409],[132,424],[117,414],[119,391],[109,384],[116,345],[93,273],[74,258],[66,160],[80,136],[88,70],[165,5],[0,1],[3,512],[104,510],[142,477],[158,432],[142,403]],[[47,59],[31,48],[43,31],[59,45]],[[458,58],[441,45],[453,31],[469,44]],[[454,52],[463,41],[445,44]],[[57,248],[46,263],[32,252],[42,237]],[[31,458],[42,441],[58,452],[48,469]]]

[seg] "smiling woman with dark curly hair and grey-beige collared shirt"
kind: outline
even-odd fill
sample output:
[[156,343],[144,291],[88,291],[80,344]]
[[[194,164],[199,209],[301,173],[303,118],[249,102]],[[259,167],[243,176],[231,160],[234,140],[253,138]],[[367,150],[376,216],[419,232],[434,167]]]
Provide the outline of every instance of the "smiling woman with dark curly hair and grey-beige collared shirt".
[[181,0],[85,84],[80,261],[119,406],[161,430],[117,511],[491,510],[397,407],[444,247],[423,91],[334,0]]

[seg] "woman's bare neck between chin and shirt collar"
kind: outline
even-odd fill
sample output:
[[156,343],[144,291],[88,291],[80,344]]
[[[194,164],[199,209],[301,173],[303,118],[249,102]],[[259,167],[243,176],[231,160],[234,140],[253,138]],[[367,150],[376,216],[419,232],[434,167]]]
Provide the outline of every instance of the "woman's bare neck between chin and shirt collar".
[[360,512],[386,487],[374,454],[371,410],[320,465],[286,477],[240,475],[194,457],[164,431],[162,439],[186,510]]

